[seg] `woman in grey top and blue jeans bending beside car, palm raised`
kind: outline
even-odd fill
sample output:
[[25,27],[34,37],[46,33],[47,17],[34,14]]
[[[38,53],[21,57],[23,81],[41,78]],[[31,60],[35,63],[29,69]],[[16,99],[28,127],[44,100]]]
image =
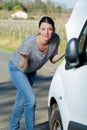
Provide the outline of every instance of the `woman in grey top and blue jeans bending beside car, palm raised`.
[[10,58],[8,70],[17,88],[16,101],[10,122],[10,130],[18,130],[24,112],[26,130],[35,129],[36,98],[32,88],[36,71],[50,59],[57,62],[64,56],[58,54],[60,40],[55,33],[54,21],[42,17],[39,21],[39,33],[27,37]]

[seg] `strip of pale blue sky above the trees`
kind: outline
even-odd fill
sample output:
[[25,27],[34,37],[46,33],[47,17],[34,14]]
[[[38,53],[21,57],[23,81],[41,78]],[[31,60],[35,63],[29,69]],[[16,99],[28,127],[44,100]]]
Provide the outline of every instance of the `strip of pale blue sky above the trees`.
[[[43,2],[46,2],[47,0],[42,0]],[[54,3],[60,3],[63,4],[65,6],[65,8],[73,8],[75,3],[78,0],[51,0]]]

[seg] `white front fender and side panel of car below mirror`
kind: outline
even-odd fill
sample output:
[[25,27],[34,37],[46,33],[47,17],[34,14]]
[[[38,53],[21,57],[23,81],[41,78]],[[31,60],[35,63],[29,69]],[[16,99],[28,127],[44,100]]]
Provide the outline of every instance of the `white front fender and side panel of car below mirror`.
[[[65,66],[65,61],[57,68],[53,77],[48,106],[50,106],[51,98],[54,97],[60,113],[62,113],[64,130],[67,130],[69,121],[87,124],[87,103],[85,102],[87,98],[87,65],[68,71],[63,69],[63,66]],[[83,73],[85,74],[84,80]],[[69,78],[68,81],[67,78]]]

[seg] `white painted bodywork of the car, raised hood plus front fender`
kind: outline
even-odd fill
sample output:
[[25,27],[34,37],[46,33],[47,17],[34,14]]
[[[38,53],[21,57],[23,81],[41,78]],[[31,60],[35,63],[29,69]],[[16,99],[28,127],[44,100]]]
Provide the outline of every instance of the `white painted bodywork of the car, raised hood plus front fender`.
[[[71,18],[66,24],[67,40],[73,37],[80,39],[84,26],[86,26],[87,37],[86,5],[86,0],[79,0],[77,2],[75,10],[73,10]],[[80,15],[77,18],[78,12]],[[87,63],[68,70],[65,68],[65,65],[66,59],[57,67],[53,76],[48,94],[48,107],[51,108],[51,100],[55,99],[59,107],[63,130],[69,130],[68,126],[70,122],[82,124],[87,129]]]

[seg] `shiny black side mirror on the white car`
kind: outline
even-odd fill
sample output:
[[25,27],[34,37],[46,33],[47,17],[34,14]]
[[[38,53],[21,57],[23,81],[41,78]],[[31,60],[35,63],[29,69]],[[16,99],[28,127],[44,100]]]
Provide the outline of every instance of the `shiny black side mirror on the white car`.
[[77,38],[72,38],[67,43],[65,60],[65,69],[71,69],[79,65],[79,48]]

